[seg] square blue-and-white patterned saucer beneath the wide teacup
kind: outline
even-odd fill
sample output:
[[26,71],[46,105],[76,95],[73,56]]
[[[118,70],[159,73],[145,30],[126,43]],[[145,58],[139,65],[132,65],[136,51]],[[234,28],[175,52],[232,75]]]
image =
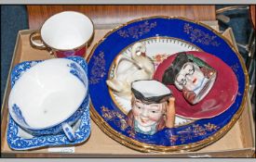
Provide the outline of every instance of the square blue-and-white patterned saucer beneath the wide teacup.
[[[82,57],[73,56],[67,57],[78,63],[81,67],[86,69],[87,65],[84,64]],[[11,73],[11,87],[19,80],[20,76],[27,70],[36,65],[39,61],[25,61],[18,64]],[[28,150],[44,146],[56,146],[56,145],[69,145],[76,143],[83,143],[88,139],[90,134],[90,116],[88,105],[82,106],[85,110],[82,117],[76,121],[73,125],[74,134],[76,140],[70,142],[65,136],[64,132],[55,135],[42,135],[33,136],[30,133],[22,130],[18,124],[9,116],[7,126],[7,143],[10,148],[15,150]]]

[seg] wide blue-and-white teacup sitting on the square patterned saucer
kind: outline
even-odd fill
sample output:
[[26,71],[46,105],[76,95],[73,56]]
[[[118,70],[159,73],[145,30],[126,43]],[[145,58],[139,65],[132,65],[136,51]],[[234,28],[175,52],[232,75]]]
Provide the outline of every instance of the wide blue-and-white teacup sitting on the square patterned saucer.
[[88,106],[88,77],[86,61],[73,57],[86,66],[52,58],[25,70],[15,82],[8,109],[22,129],[35,136],[63,131],[70,141],[75,140],[72,125]]

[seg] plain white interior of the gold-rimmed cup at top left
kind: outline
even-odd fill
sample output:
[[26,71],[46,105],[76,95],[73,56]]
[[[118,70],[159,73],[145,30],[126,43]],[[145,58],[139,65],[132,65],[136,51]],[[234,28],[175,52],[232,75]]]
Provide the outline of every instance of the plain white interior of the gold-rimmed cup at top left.
[[55,49],[68,50],[85,44],[93,25],[85,15],[65,11],[47,19],[41,28],[42,39]]

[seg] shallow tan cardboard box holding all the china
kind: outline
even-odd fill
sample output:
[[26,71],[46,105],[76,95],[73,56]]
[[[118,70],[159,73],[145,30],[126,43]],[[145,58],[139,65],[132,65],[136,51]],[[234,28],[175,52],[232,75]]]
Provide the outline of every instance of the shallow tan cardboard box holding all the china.
[[[96,30],[94,39],[88,48],[91,50],[94,44],[100,40],[103,35],[110,30]],[[19,31],[16,47],[12,59],[11,69],[18,63],[28,60],[48,59],[51,56],[44,50],[36,50],[29,43],[30,33],[33,31]],[[233,33],[229,29],[223,33],[231,42],[234,42]],[[48,148],[39,148],[30,151],[15,151],[7,144],[7,99],[10,92],[9,77],[7,80],[7,89],[4,96],[4,102],[1,109],[1,154],[2,156],[18,157],[251,157],[255,154],[255,128],[252,119],[249,100],[241,117],[236,121],[234,127],[228,131],[219,141],[212,143],[196,152],[175,152],[175,153],[141,153],[132,150],[121,143],[115,142],[100,130],[92,121],[91,135],[85,143],[72,146],[72,154],[60,153],[61,149],[55,151]],[[249,97],[248,97],[249,98]],[[61,146],[60,146],[61,147]],[[63,151],[63,149],[62,149]]]

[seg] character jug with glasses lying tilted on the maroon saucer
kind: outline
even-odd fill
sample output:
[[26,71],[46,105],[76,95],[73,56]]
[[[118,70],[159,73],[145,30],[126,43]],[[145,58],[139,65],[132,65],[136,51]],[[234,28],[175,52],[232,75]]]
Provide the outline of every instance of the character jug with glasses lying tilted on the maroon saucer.
[[193,55],[180,53],[165,71],[163,82],[174,84],[192,105],[200,102],[210,91],[217,71]]

